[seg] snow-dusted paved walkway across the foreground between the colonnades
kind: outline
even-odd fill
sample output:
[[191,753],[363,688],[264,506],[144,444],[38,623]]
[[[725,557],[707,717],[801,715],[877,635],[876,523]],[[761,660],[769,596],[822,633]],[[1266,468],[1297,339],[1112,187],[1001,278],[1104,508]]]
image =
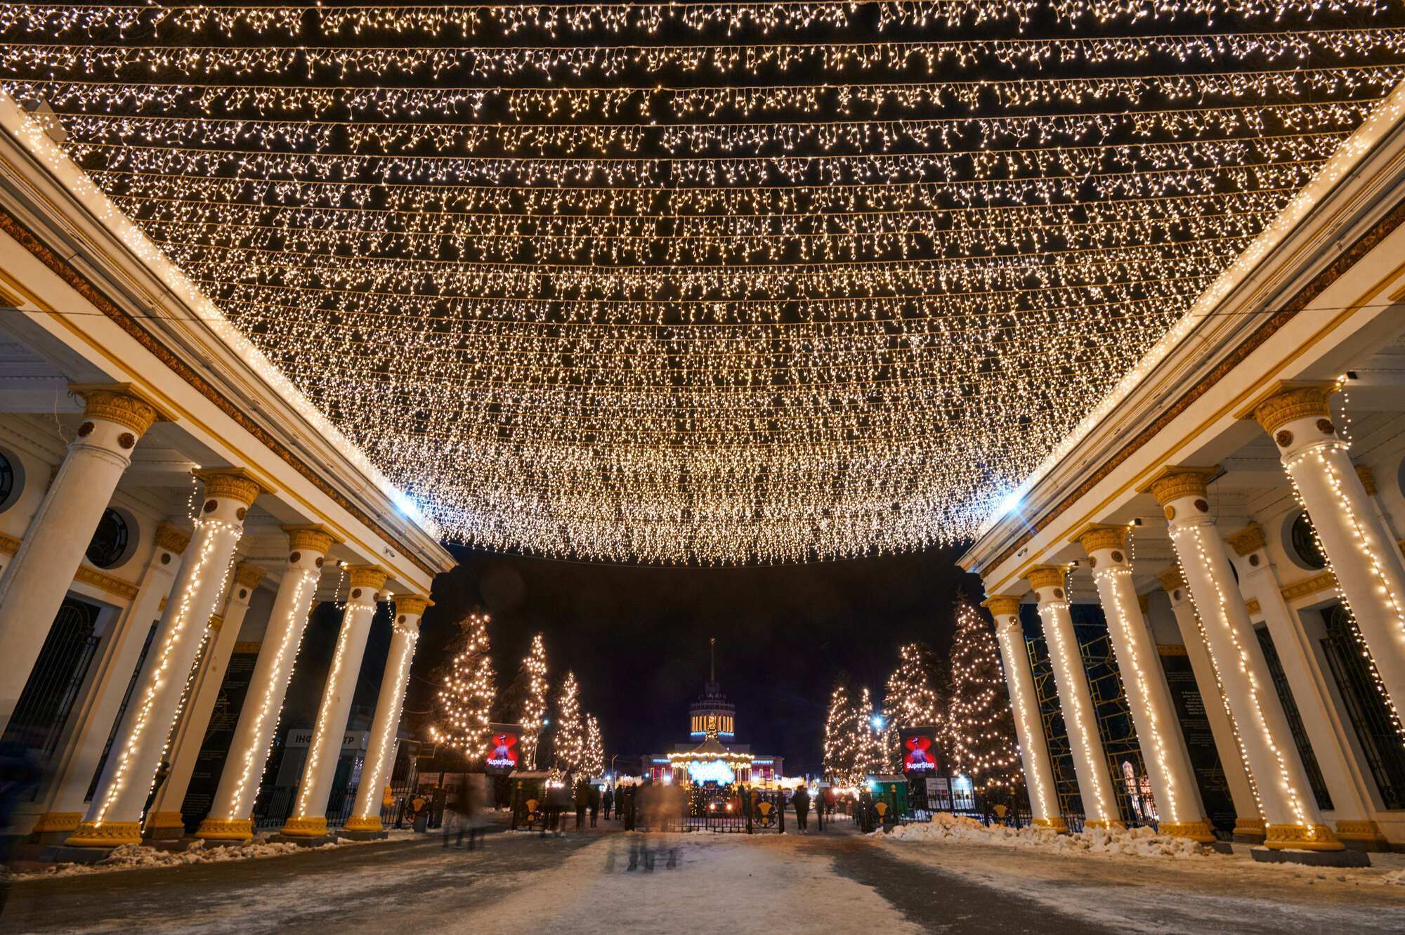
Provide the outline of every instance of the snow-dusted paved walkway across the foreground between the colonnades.
[[847,823],[784,837],[615,828],[497,833],[473,852],[431,838],[22,880],[0,931],[1405,931],[1405,887],[1381,875],[1055,858],[863,838]]

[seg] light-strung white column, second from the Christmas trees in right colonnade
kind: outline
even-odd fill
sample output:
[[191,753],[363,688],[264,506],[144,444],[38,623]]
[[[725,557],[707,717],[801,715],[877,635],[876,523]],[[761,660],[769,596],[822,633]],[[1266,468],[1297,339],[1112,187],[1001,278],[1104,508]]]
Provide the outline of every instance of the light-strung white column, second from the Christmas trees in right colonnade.
[[1123,820],[1117,811],[1117,797],[1113,795],[1113,781],[1107,772],[1103,740],[1097,733],[1097,709],[1093,708],[1087,670],[1083,668],[1083,656],[1073,635],[1073,618],[1068,612],[1065,576],[1064,567],[1035,566],[1024,580],[1038,598],[1040,619],[1044,621],[1044,637],[1054,667],[1054,685],[1058,689],[1064,726],[1068,727],[1069,744],[1073,748],[1073,774],[1078,776],[1078,795],[1083,800],[1085,825],[1120,828]]

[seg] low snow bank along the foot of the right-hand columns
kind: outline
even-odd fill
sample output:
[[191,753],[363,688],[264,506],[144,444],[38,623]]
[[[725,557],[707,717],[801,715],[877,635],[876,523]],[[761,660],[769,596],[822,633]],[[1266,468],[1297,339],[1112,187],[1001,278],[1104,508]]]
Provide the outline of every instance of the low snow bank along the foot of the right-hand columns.
[[1090,828],[1079,834],[1055,834],[1048,828],[986,827],[974,818],[940,811],[927,824],[899,824],[888,835],[906,841],[946,841],[1041,848],[1054,854],[1113,854],[1145,858],[1197,858],[1205,848],[1186,838],[1156,834],[1151,828]]

